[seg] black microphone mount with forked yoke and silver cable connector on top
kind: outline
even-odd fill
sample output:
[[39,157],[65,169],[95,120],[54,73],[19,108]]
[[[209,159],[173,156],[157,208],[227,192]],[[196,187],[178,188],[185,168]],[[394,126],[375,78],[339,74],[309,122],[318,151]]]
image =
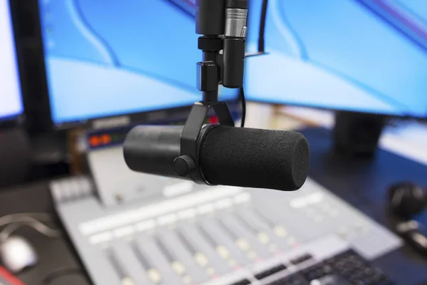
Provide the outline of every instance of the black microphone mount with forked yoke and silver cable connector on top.
[[[181,133],[181,155],[174,160],[174,171],[196,183],[206,184],[199,167],[203,127],[212,108],[220,125],[234,126],[225,102],[218,101],[218,86],[241,88],[246,45],[248,0],[196,0],[196,33],[202,35],[198,48],[203,61],[197,63],[197,88],[202,100],[194,103]],[[223,51],[221,53],[221,51]]]

